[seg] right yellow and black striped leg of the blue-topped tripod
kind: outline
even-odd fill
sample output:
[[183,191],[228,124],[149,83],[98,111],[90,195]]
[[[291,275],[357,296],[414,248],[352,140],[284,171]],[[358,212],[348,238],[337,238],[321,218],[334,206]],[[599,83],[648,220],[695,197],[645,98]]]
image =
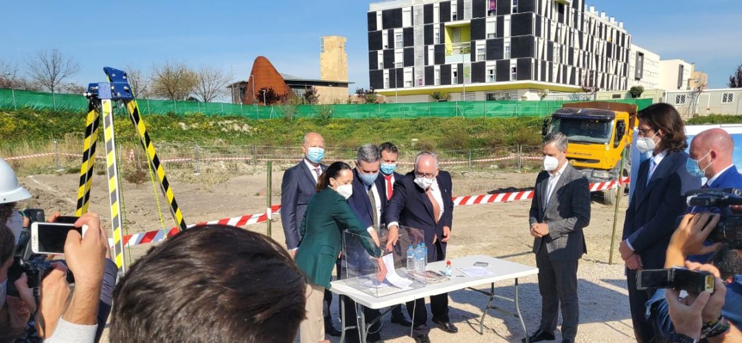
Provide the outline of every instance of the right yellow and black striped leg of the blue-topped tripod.
[[179,227],[180,230],[183,231],[186,229],[185,220],[183,220],[183,213],[180,212],[178,203],[175,201],[175,195],[170,187],[168,178],[165,176],[165,170],[162,169],[162,164],[160,163],[160,159],[157,157],[157,152],[154,150],[154,144],[152,144],[152,140],[149,138],[147,127],[145,126],[142,117],[139,116],[137,100],[126,101],[126,108],[129,112],[131,122],[134,124],[134,128],[137,131],[137,136],[139,136],[139,143],[142,144],[142,148],[144,148],[145,153],[147,153],[147,160],[149,161],[152,170],[157,174],[157,180],[160,181],[162,194],[165,196],[165,199],[168,199],[168,204],[170,204],[170,213],[175,221],[175,226]]

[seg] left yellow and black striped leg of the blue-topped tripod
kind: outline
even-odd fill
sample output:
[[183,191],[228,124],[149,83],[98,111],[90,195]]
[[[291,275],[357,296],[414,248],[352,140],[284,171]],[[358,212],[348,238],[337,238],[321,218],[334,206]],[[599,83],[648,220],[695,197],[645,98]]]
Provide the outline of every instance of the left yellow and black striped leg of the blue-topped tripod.
[[82,216],[88,212],[88,204],[90,204],[95,147],[98,141],[99,105],[99,101],[90,101],[88,117],[85,120],[85,140],[82,142],[82,166],[80,167],[80,186],[77,189],[75,216]]

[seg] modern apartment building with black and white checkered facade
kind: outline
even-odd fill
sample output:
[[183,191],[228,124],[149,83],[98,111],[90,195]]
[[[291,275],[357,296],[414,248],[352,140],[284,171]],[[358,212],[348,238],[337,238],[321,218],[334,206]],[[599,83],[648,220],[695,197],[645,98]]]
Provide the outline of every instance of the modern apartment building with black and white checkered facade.
[[368,12],[370,87],[387,101],[626,90],[631,35],[584,0],[391,0]]

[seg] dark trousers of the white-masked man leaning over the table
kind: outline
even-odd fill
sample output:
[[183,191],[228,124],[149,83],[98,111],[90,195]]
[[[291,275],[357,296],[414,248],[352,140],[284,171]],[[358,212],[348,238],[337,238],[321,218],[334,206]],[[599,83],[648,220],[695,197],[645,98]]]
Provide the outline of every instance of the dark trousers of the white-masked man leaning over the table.
[[[443,253],[441,241],[433,244],[428,248],[428,261],[438,262],[446,259]],[[413,321],[413,334],[415,336],[427,335],[430,327],[427,326],[427,308],[425,308],[425,299],[417,299],[413,302],[407,302],[407,313]],[[430,296],[430,313],[433,315],[433,321],[450,322],[448,316],[448,293]]]

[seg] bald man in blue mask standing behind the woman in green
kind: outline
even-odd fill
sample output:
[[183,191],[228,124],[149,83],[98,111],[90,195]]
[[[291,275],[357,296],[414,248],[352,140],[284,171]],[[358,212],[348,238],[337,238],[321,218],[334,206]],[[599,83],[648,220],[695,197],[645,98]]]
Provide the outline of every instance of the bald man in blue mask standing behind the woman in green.
[[[316,132],[304,135],[301,150],[304,158],[294,167],[283,173],[280,187],[280,221],[283,225],[283,234],[286,236],[286,248],[292,257],[301,242],[299,226],[306,212],[306,204],[317,191],[317,179],[327,166],[321,164],[324,158],[324,139]],[[340,336],[341,332],[332,323],[329,305],[332,304],[332,292],[325,292],[325,332],[330,336]]]

